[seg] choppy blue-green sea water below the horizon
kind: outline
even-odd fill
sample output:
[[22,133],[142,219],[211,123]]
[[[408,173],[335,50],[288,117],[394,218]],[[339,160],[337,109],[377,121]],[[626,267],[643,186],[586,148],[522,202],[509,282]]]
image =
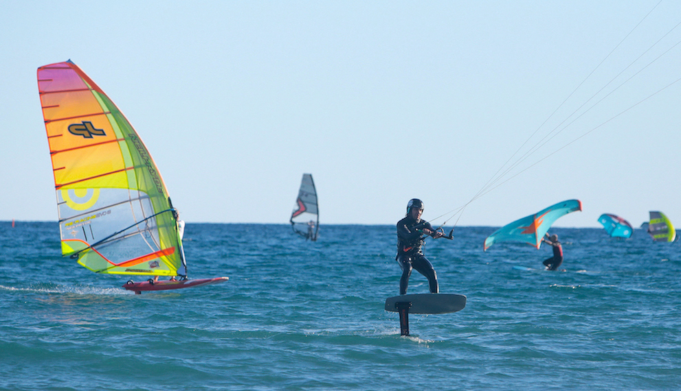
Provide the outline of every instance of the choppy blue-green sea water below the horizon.
[[[555,228],[550,247],[495,228],[428,239],[457,313],[399,315],[394,226],[187,224],[190,276],[219,285],[135,295],[127,276],[60,257],[55,222],[0,223],[2,390],[678,390],[681,245],[636,230]],[[522,268],[532,268],[518,270]],[[144,280],[137,277],[137,280]],[[408,293],[426,293],[412,274]]]

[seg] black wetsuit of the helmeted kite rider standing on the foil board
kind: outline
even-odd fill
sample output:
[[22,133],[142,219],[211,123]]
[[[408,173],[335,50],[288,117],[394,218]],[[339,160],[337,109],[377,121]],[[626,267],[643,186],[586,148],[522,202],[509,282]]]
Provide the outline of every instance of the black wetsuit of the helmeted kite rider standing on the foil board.
[[402,278],[400,279],[400,294],[407,293],[409,277],[412,268],[423,274],[428,279],[430,293],[440,292],[438,287],[438,276],[432,263],[423,256],[423,237],[419,232],[423,228],[435,231],[433,226],[425,220],[416,222],[412,217],[405,217],[397,223],[397,257],[395,259],[402,268]]

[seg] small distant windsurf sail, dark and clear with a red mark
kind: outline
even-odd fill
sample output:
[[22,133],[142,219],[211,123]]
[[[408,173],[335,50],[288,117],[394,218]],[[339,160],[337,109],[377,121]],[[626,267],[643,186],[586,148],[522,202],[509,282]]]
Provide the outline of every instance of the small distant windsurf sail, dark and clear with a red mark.
[[312,241],[317,240],[320,229],[320,214],[317,207],[317,191],[312,174],[302,174],[298,198],[291,213],[291,227],[298,235]]

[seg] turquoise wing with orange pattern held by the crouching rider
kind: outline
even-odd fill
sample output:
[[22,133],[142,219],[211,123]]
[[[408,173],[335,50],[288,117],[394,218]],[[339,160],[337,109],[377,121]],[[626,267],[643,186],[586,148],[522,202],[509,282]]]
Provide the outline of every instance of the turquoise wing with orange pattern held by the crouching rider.
[[559,219],[568,213],[574,211],[581,211],[580,200],[567,200],[551,205],[548,208],[523,217],[520,220],[515,220],[511,224],[506,224],[499,228],[487,239],[484,239],[484,250],[500,241],[524,241],[539,248],[542,244],[542,237],[548,232],[548,228]]

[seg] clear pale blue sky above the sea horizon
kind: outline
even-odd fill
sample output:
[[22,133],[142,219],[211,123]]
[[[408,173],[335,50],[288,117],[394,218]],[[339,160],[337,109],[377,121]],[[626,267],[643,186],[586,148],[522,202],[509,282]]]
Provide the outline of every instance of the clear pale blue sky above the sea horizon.
[[0,220],[57,218],[36,69],[70,58],[188,223],[286,224],[307,172],[322,224],[394,224],[414,197],[432,220],[555,134],[457,224],[578,198],[555,226],[681,225],[681,7],[656,4],[4,1]]

